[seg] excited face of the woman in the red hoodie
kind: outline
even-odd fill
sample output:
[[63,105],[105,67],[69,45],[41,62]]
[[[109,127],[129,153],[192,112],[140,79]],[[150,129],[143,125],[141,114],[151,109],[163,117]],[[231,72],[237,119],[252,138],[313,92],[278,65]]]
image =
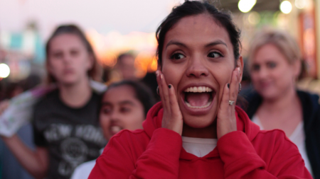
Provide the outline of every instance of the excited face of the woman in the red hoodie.
[[206,14],[182,18],[166,33],[162,56],[158,68],[176,89],[183,122],[194,128],[211,125],[233,70],[242,71],[228,32]]

